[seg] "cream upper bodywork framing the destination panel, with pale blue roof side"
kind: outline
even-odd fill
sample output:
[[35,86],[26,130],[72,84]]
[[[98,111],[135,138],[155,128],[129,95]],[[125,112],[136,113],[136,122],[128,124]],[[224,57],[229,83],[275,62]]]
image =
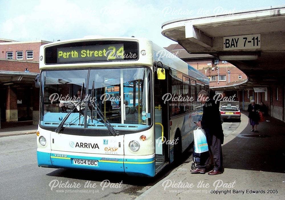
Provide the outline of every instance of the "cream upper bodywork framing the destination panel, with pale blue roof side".
[[[209,84],[209,78],[193,68],[191,65],[187,64],[165,48],[162,48],[156,44],[154,44],[151,40],[148,40],[146,38],[137,38],[137,37],[105,37],[105,36],[85,36],[84,38],[77,38],[77,39],[70,39],[70,40],[62,40],[62,41],[56,41],[49,44],[44,44],[40,47],[40,56],[44,57],[44,49],[51,46],[57,46],[62,44],[68,44],[68,43],[76,43],[76,42],[88,42],[88,41],[94,41],[94,40],[113,40],[113,41],[137,41],[139,43],[139,51],[140,54],[139,59],[136,61],[123,61],[123,62],[100,62],[100,66],[127,66],[132,65],[134,62],[136,63],[136,66],[146,65],[146,66],[152,66],[153,62],[160,61],[163,63],[164,66],[167,66],[169,68],[172,68],[174,70],[180,71],[184,74],[188,74],[191,77],[194,77],[195,79],[198,79],[205,84]],[[147,52],[146,56],[141,55],[141,51],[145,50]],[[151,52],[151,53],[150,53]],[[151,56],[151,58],[148,57]],[[46,65],[44,63],[44,59],[40,60],[40,70],[42,69],[50,69],[50,68],[78,68],[78,67],[90,67],[90,66],[98,66],[98,62],[96,63],[76,63],[76,64],[52,64],[52,65]]]

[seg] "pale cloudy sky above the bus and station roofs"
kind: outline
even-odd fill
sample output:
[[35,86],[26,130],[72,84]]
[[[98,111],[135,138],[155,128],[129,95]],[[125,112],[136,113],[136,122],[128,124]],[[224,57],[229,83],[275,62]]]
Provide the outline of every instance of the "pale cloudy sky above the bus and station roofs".
[[162,24],[285,5],[285,0],[0,0],[0,38],[57,41],[87,35],[135,36],[166,47]]

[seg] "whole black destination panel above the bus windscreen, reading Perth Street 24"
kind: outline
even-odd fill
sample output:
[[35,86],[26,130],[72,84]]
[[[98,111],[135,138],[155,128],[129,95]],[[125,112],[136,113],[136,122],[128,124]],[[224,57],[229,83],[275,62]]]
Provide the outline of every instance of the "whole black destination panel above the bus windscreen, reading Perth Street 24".
[[139,59],[136,41],[91,40],[47,46],[45,64],[114,62]]

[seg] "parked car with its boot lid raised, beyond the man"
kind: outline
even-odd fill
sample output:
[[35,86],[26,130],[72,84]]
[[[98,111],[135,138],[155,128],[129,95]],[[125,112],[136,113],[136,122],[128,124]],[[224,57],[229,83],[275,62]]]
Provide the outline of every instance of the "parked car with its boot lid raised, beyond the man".
[[223,119],[241,120],[239,101],[220,101],[219,109]]

